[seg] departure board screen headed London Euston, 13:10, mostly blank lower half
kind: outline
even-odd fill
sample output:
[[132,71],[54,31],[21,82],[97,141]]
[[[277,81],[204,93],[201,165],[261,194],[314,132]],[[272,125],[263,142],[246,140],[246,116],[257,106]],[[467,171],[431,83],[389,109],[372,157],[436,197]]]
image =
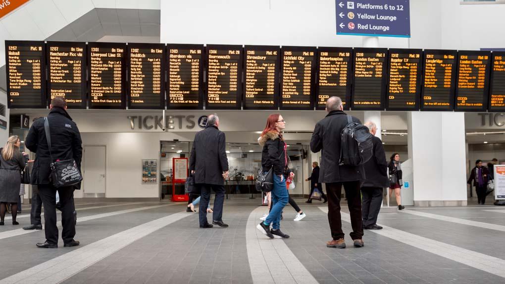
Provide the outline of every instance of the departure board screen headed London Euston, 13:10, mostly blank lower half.
[[355,48],[351,107],[356,110],[384,109],[387,49]]

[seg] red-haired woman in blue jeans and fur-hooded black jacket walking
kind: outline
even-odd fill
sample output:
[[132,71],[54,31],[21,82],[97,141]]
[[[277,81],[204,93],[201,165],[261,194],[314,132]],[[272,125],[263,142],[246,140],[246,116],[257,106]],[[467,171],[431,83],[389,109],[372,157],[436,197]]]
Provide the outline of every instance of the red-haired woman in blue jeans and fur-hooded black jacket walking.
[[[280,133],[286,123],[280,114],[271,114],[267,119],[267,126],[261,133],[258,143],[263,146],[261,166],[264,172],[273,171],[274,186],[271,191],[272,207],[265,221],[258,224],[257,228],[269,238],[289,238],[280,231],[281,213],[286,206],[289,195],[286,188],[288,173],[288,158],[286,156],[286,143]],[[285,176],[286,175],[286,176]],[[293,173],[289,174],[294,176]],[[272,230],[270,230],[272,225]]]

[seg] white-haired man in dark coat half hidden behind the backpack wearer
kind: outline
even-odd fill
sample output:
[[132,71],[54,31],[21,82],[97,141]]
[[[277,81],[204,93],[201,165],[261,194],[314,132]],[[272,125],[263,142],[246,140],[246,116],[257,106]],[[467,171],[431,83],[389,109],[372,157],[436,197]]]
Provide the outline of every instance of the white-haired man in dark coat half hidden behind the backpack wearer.
[[375,136],[377,126],[369,121],[364,124],[370,129],[373,144],[373,156],[363,166],[365,168],[366,179],[361,184],[361,194],[363,202],[363,229],[380,230],[377,225],[380,205],[382,204],[382,192],[384,187],[389,186],[387,177],[387,161],[382,141]]

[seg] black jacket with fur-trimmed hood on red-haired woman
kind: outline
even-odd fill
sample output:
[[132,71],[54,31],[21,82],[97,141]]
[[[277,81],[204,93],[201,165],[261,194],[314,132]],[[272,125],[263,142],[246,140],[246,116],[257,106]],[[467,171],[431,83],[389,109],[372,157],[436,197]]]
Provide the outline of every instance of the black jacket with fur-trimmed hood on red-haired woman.
[[286,152],[284,151],[284,140],[279,132],[275,130],[268,131],[258,139],[258,144],[263,146],[261,154],[261,166],[263,171],[270,171],[273,167],[275,175],[287,173]]

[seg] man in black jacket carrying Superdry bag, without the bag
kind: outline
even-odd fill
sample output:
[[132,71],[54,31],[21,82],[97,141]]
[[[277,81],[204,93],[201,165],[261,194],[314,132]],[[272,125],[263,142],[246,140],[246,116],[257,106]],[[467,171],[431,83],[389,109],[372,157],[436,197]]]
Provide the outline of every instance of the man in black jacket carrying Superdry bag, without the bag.
[[[55,97],[49,106],[51,111],[47,115],[49,129],[51,133],[51,155],[54,161],[74,159],[77,168],[81,169],[82,141],[81,134],[75,122],[68,115],[67,102],[63,97]],[[65,186],[56,188],[49,180],[51,175],[51,155],[47,145],[44,119],[35,120],[28,131],[25,139],[25,146],[31,152],[36,153],[35,162],[31,173],[31,184],[36,184],[38,193],[44,205],[45,220],[45,242],[37,243],[39,248],[58,247],[58,227],[56,226],[56,191],[60,194],[60,205],[62,211],[62,239],[65,247],[78,246],[79,242],[74,240],[75,220],[74,220],[74,189],[77,186]]]

